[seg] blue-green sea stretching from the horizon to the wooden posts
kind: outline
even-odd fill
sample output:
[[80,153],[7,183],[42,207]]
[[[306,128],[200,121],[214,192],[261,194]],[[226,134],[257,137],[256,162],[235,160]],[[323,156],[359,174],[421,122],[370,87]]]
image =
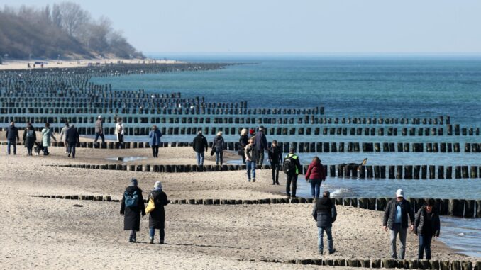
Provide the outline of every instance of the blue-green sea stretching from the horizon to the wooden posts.
[[[250,108],[312,108],[324,106],[332,118],[437,118],[452,124],[481,128],[481,57],[471,56],[323,56],[323,55],[172,55],[150,57],[186,62],[242,63],[206,72],[173,72],[93,78],[114,90],[144,89],[155,93],[182,92],[205,96],[207,102],[248,101]],[[340,124],[339,124],[340,125]],[[321,125],[321,126],[339,126]],[[219,126],[219,125],[215,125]],[[269,127],[269,125],[266,125]],[[274,125],[273,125],[274,126]],[[295,125],[294,125],[295,126]],[[369,126],[369,125],[363,125]],[[398,126],[401,125],[372,125]],[[414,125],[413,125],[414,126]],[[432,127],[433,125],[431,125]],[[226,135],[237,142],[238,136]],[[169,142],[192,136],[164,136]],[[208,136],[212,140],[213,136]],[[480,136],[333,136],[268,135],[282,142],[481,142]],[[126,140],[146,140],[129,137]],[[480,153],[306,153],[307,164],[319,155],[324,164],[481,165]],[[326,180],[325,188],[339,197],[385,197],[402,188],[407,196],[481,199],[481,179],[453,180]],[[300,196],[310,196],[299,181]],[[481,219],[442,218],[440,240],[471,256],[481,257]],[[441,229],[443,230],[443,228]]]

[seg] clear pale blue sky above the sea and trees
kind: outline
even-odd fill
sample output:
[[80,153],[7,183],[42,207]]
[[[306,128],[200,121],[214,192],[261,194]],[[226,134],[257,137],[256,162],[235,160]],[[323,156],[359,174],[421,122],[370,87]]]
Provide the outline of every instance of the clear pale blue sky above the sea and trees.
[[74,2],[146,53],[481,54],[480,0]]

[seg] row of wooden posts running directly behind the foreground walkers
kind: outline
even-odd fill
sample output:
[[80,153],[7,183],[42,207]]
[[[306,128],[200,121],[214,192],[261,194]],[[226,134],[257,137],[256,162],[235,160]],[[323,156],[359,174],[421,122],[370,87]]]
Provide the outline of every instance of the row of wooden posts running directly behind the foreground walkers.
[[[111,196],[102,195],[37,195],[41,198],[61,198],[70,200],[87,201],[116,201]],[[246,205],[246,204],[286,204],[286,203],[316,203],[317,198],[260,198],[254,200],[241,199],[213,199],[189,198],[170,200],[173,204],[189,205]],[[392,198],[331,198],[337,206],[352,206],[367,210],[385,211],[387,203]],[[424,206],[424,198],[408,198],[415,213]],[[458,218],[481,218],[481,199],[465,200],[460,198],[436,198],[436,209],[439,215],[448,215]],[[147,200],[145,199],[145,203]]]

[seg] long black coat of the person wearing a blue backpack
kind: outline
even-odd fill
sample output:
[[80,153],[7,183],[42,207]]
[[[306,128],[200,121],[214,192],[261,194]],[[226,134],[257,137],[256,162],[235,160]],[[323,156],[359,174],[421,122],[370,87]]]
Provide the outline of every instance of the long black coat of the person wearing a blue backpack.
[[137,191],[138,204],[136,207],[126,207],[126,198],[122,196],[121,215],[123,215],[123,230],[140,230],[140,213],[145,215],[145,205],[143,203],[142,189],[137,186],[128,186],[126,188],[128,193]]

